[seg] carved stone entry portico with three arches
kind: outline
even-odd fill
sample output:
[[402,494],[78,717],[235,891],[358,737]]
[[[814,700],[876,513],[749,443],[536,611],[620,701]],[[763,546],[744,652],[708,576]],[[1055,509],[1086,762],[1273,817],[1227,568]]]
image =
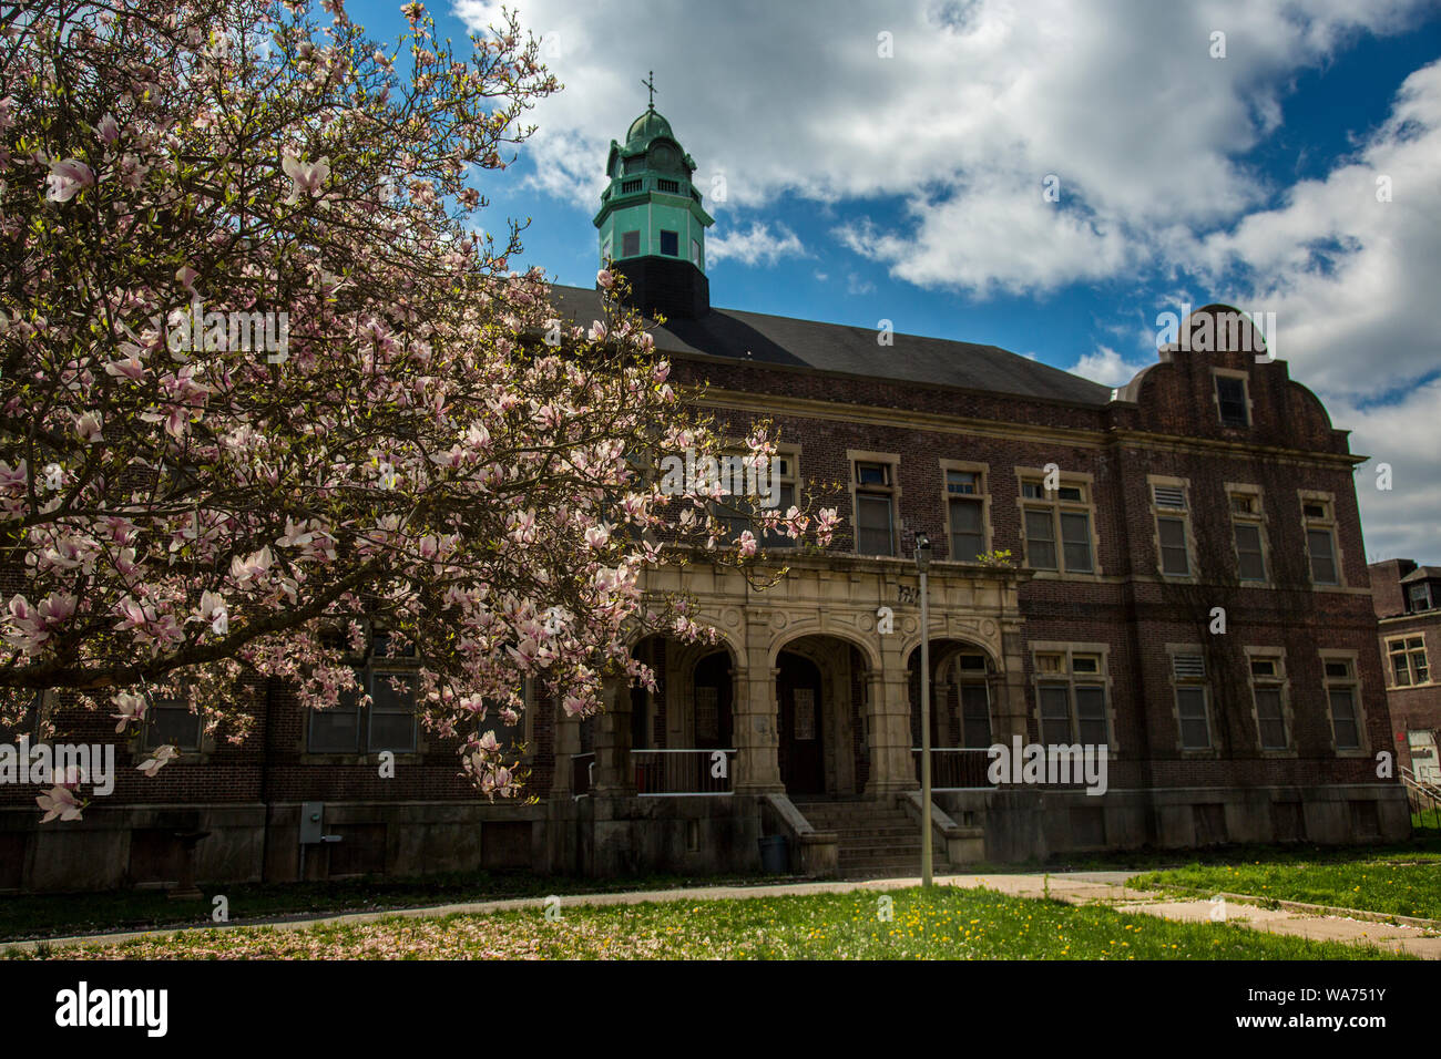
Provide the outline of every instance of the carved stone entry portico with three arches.
[[[800,555],[785,566],[787,576],[764,592],[723,566],[648,575],[656,592],[689,594],[720,643],[651,637],[635,645],[656,670],[657,689],[631,694],[617,687],[608,696],[607,713],[597,719],[597,794],[634,794],[637,784],[650,794],[719,792],[713,784],[706,791],[654,790],[657,778],[667,787],[715,778],[674,758],[659,771],[651,764],[686,752],[709,764],[723,752],[723,767],[712,771],[722,771],[725,791],[736,795],[879,798],[916,788],[911,669],[921,631],[914,568],[895,559]],[[967,700],[973,715],[976,703],[983,713],[973,722],[984,722],[996,738],[1026,735],[1016,604],[1025,578],[1023,571],[970,563],[931,566],[937,716],[957,712],[960,679],[948,674],[965,654],[983,661],[971,674],[984,684],[984,694]],[[572,745],[579,749],[562,735],[558,749]]]

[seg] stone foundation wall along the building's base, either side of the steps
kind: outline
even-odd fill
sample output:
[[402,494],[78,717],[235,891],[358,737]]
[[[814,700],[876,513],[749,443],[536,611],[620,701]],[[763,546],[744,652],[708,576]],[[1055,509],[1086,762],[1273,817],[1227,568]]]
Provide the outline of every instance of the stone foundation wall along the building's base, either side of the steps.
[[[1223,843],[1399,841],[1411,817],[1398,784],[1084,791],[938,791],[961,827],[981,827],[990,863],[1065,853]],[[267,828],[267,820],[269,827]],[[183,870],[177,834],[205,883],[301,877],[300,804],[144,805],[86,811],[71,824],[0,810],[0,892],[166,886]],[[751,873],[761,867],[762,798],[566,798],[488,803],[330,803],[305,847],[307,880],[360,875],[533,870],[556,875]]]

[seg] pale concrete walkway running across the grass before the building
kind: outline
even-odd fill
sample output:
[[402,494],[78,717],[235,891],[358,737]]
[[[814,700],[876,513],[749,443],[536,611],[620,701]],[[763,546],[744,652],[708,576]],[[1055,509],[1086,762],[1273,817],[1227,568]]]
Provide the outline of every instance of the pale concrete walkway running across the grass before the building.
[[[1392,916],[1349,909],[1329,909],[1317,905],[1280,902],[1282,908],[1261,908],[1222,895],[1223,903],[1206,898],[1160,896],[1154,890],[1131,890],[1125,883],[1138,872],[1065,872],[1059,875],[938,875],[938,886],[986,888],[1016,898],[1050,896],[1072,905],[1105,903],[1120,912],[1154,915],[1163,919],[1205,922],[1223,916],[1257,931],[1290,934],[1314,941],[1372,942],[1396,952],[1409,952],[1424,960],[1441,960],[1441,922],[1406,919],[1391,922]],[[788,882],[771,886],[695,886],[673,890],[638,890],[631,893],[574,893],[558,896],[562,908],[574,905],[640,905],[651,901],[710,901],[720,898],[772,898],[806,893],[847,893],[852,890],[898,890],[918,886],[918,877],[850,879],[834,882]],[[537,908],[546,898],[513,898],[460,905],[434,905],[378,912],[344,912],[331,916],[297,916],[288,919],[252,919],[233,924],[203,924],[159,931],[130,931],[91,934],[36,941],[0,941],[0,949],[33,949],[37,944],[52,948],[86,944],[115,945],[134,938],[164,938],[184,931],[229,931],[241,926],[271,926],[297,931],[317,924],[365,924],[391,916],[429,918],[452,913],[486,913],[509,909]],[[1401,918],[1396,918],[1401,919]]]

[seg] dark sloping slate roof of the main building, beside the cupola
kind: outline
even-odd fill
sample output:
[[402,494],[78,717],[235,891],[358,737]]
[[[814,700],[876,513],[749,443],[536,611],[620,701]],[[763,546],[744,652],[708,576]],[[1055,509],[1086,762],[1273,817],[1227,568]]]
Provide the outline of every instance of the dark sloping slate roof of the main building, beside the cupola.
[[[598,291],[559,285],[550,290],[556,308],[575,323],[588,326],[599,318]],[[657,349],[666,353],[757,360],[1078,405],[1105,405],[1111,399],[1108,386],[999,346],[899,333],[893,336],[893,346],[879,346],[876,331],[869,327],[712,308],[699,320],[670,320],[657,327],[654,336]]]

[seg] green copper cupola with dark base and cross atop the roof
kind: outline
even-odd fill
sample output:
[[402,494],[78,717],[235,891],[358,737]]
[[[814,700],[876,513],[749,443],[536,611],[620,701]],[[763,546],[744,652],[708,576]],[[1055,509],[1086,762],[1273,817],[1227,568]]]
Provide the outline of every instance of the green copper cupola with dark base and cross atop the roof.
[[611,140],[610,183],[595,215],[601,262],[625,275],[644,313],[699,317],[710,311],[706,229],[715,220],[702,207],[695,171],[695,160],[654,102],[631,122],[624,144]]

